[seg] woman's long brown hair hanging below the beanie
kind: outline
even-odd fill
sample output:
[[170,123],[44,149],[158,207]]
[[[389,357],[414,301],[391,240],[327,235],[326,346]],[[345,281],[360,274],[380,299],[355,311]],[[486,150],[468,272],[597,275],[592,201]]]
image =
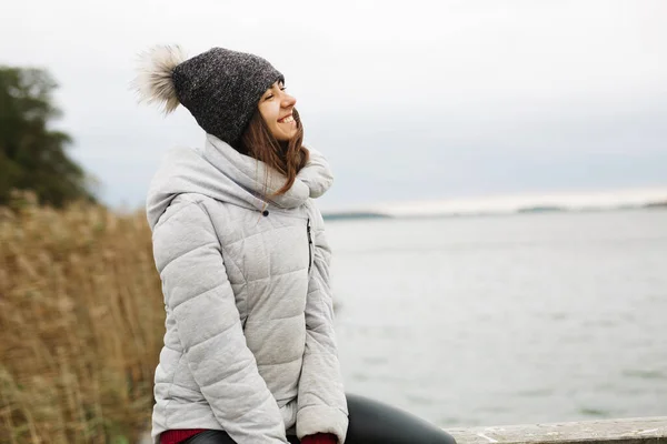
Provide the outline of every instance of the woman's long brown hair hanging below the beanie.
[[[272,195],[285,194],[297,179],[297,173],[308,162],[308,149],[301,144],[303,141],[303,127],[297,110],[292,110],[297,123],[297,134],[287,142],[277,140],[262,119],[259,110],[255,111],[248,128],[238,143],[238,151],[266,163],[287,178],[282,188]],[[265,184],[268,188],[268,170]]]

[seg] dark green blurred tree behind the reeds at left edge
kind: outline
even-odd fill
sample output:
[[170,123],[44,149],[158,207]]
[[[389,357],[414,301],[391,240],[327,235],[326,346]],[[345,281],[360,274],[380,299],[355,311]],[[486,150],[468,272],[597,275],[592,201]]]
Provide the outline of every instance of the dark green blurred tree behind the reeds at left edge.
[[30,190],[54,206],[96,200],[93,179],[66,152],[72,139],[51,128],[61,114],[56,88],[46,70],[0,67],[0,205],[12,190]]

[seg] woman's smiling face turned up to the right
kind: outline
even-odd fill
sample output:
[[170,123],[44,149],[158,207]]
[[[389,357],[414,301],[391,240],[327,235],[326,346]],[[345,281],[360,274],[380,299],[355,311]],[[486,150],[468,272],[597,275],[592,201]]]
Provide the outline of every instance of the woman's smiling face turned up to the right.
[[297,99],[285,91],[285,85],[277,81],[259,99],[259,113],[269,127],[273,137],[288,141],[297,134],[297,122],[292,118],[292,110]]

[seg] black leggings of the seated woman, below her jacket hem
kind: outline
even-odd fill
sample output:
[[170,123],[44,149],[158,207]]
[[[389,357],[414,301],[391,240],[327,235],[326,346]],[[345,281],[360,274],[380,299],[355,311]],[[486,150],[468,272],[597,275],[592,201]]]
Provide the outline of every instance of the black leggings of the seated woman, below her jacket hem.
[[[396,407],[358,395],[347,395],[349,426],[345,444],[456,444],[447,432]],[[296,436],[287,436],[298,444]],[[221,431],[207,431],[185,444],[236,444]]]

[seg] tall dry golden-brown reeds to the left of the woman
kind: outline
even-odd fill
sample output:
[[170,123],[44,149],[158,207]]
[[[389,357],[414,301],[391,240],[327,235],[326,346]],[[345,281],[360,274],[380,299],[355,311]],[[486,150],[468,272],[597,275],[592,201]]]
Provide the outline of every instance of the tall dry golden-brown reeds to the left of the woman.
[[142,212],[0,208],[0,443],[133,443],[163,305]]

